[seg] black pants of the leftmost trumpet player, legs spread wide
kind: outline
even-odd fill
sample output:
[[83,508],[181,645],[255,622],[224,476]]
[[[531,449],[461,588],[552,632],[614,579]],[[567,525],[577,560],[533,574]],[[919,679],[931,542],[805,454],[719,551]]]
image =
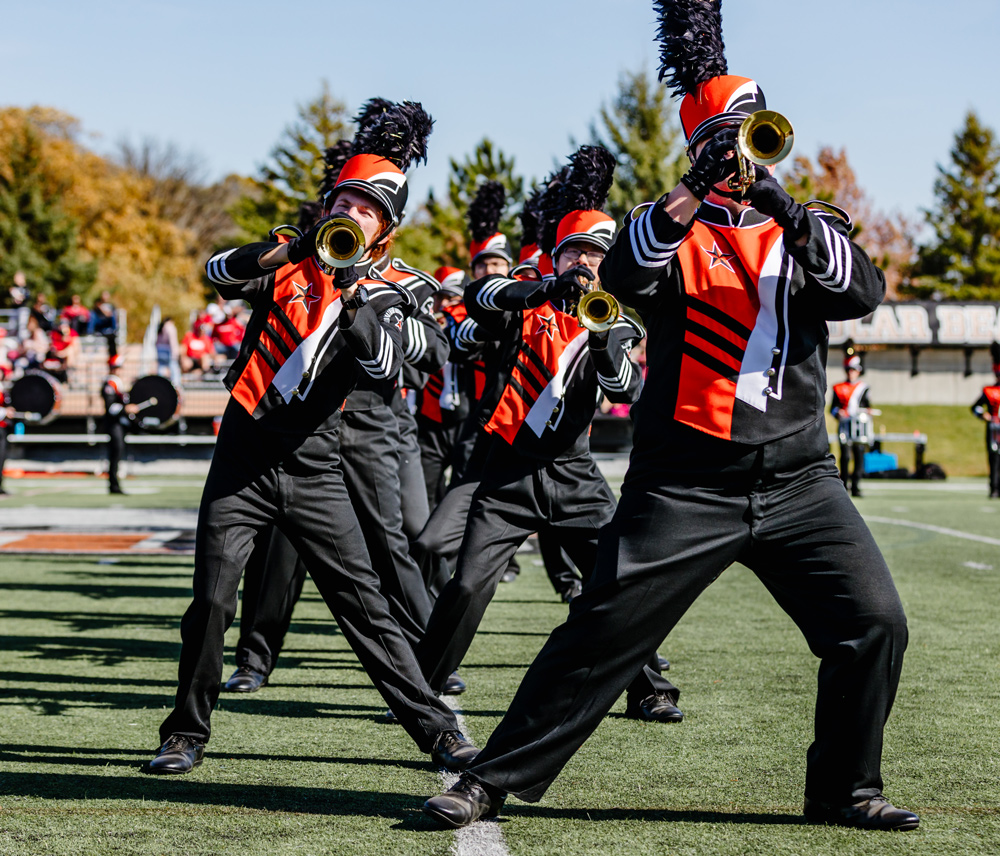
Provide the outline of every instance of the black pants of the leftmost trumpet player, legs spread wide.
[[176,733],[208,740],[240,577],[255,539],[272,523],[302,558],[375,688],[420,749],[429,752],[437,734],[457,729],[379,591],[336,458],[335,439],[261,431],[230,404],[202,495],[194,599],[181,621],[177,697],[161,739]]

